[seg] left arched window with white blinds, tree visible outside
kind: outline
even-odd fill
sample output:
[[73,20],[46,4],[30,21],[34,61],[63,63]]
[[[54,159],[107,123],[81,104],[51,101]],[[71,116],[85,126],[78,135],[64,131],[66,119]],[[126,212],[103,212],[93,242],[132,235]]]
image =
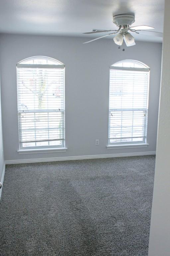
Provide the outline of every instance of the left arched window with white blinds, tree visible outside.
[[64,65],[47,57],[17,64],[20,149],[64,146]]

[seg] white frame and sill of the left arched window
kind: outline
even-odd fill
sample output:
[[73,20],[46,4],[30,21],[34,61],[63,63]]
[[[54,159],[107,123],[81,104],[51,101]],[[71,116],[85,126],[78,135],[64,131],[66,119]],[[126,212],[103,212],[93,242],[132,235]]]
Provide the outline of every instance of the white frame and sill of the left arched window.
[[[54,62],[56,64],[27,64],[24,62],[27,61],[31,61],[31,60],[36,60],[36,59],[42,59],[42,60],[46,60],[46,61],[51,61]],[[18,113],[18,132],[19,132],[19,150],[17,150],[19,152],[19,154],[27,154],[30,152],[33,153],[47,153],[48,151],[50,152],[62,152],[62,151],[66,151],[66,147],[65,147],[65,65],[63,63],[61,63],[60,61],[47,57],[47,56],[33,56],[30,58],[26,58],[20,62],[17,63],[16,66],[16,71],[17,68],[62,68],[63,69],[63,110],[56,110],[56,109],[43,109],[43,110],[25,110],[24,112],[26,113],[49,113],[49,112],[60,112],[63,113],[63,139],[58,139],[61,140],[61,145],[49,145],[49,141],[50,140],[46,140],[48,142],[48,145],[45,146],[30,146],[30,147],[23,147],[23,142],[20,142],[20,131],[22,131],[20,129],[20,122],[19,122],[19,114],[22,113],[21,110],[19,110],[19,97],[18,97],[18,73],[17,73],[17,113]],[[45,128],[43,129],[45,130]],[[48,129],[47,129],[48,130]],[[29,141],[28,141],[29,142]]]

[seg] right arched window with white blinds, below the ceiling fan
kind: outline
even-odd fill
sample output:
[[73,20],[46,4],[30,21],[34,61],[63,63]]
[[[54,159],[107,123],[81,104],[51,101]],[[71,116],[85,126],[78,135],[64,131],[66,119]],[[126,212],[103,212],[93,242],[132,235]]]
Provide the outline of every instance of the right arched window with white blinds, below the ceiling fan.
[[109,145],[146,143],[149,68],[125,60],[110,67]]

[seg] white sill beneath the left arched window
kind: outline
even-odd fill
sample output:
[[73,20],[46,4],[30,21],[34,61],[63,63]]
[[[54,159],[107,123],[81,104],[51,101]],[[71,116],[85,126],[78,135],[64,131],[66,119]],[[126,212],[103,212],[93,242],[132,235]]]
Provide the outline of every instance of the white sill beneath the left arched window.
[[37,149],[19,149],[18,154],[40,154],[40,153],[59,153],[66,152],[67,148],[37,148]]

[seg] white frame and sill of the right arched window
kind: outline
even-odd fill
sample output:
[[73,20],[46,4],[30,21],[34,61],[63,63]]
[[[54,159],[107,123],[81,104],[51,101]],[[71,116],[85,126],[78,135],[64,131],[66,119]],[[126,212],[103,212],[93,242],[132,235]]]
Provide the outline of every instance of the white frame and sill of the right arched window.
[[[126,65],[124,66],[124,64],[126,64],[127,62],[133,63],[134,65],[137,64],[141,67],[126,67]],[[122,65],[122,66],[119,66]],[[131,148],[131,147],[147,147],[148,144],[148,138],[147,138],[147,123],[148,123],[148,103],[149,103],[149,85],[150,85],[150,68],[137,60],[122,60],[122,61],[118,61],[116,63],[114,63],[113,65],[110,66],[110,71],[111,70],[126,70],[126,71],[146,71],[148,72],[148,83],[147,83],[147,101],[146,101],[146,108],[144,109],[110,109],[110,79],[109,79],[109,120],[108,120],[108,145],[107,148],[111,149],[111,148]],[[109,76],[110,76],[110,71],[109,71]],[[146,114],[146,119],[145,119],[145,125],[143,125],[143,141],[124,141],[124,142],[110,142],[110,116],[111,116],[111,112],[113,111],[145,111]],[[138,137],[139,138],[139,137]]]

